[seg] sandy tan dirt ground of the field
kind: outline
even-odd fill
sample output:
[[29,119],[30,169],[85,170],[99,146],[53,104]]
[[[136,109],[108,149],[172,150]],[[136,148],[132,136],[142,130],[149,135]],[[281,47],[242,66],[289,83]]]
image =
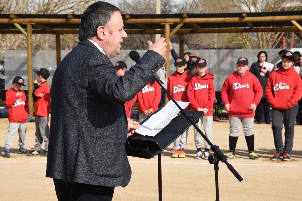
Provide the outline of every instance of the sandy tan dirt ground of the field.
[[[0,119],[0,151],[4,152],[8,119]],[[295,126],[291,161],[269,158],[275,153],[271,125],[254,124],[255,152],[258,161],[250,160],[243,131],[236,147],[236,159],[230,164],[243,177],[239,182],[225,164],[219,165],[220,200],[302,200],[302,126]],[[24,146],[34,149],[34,123],[27,123]],[[213,124],[213,144],[228,151],[229,122]],[[42,145],[44,148],[44,144]],[[203,144],[204,150],[204,144]],[[19,155],[15,135],[11,158],[0,157],[1,200],[56,200],[53,181],[45,177],[46,157]],[[215,200],[214,165],[196,160],[193,128],[189,130],[186,158],[171,158],[172,145],[162,152],[163,200]],[[158,200],[157,158],[129,157],[132,168],[127,187],[116,187],[113,200]]]

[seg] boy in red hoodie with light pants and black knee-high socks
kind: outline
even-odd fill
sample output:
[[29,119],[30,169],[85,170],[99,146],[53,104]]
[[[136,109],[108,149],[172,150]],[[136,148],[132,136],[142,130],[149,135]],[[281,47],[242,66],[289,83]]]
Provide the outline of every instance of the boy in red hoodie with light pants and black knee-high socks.
[[221,99],[224,109],[229,112],[230,120],[230,151],[226,158],[235,158],[235,148],[242,123],[249,158],[258,160],[254,152],[254,116],[257,105],[262,98],[262,86],[255,75],[250,73],[247,58],[240,57],[236,63],[237,71],[229,75],[221,88]]

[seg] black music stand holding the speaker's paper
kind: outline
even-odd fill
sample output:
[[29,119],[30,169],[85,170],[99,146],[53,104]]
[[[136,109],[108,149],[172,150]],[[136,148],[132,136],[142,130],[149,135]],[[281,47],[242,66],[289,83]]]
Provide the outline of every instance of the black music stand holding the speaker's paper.
[[[158,111],[156,111],[158,112]],[[198,119],[204,115],[203,111],[190,111],[187,110],[191,119],[197,123]],[[155,114],[155,113],[153,113]],[[151,115],[142,121],[143,124]],[[130,136],[126,143],[126,152],[128,156],[134,156],[144,159],[151,159],[155,155],[158,155],[158,199],[162,200],[162,161],[161,152],[165,150],[174,140],[176,140],[185,130],[187,130],[192,124],[187,121],[187,118],[183,115],[178,115],[173,118],[172,121],[163,128],[154,137],[143,136],[140,134],[134,134]]]

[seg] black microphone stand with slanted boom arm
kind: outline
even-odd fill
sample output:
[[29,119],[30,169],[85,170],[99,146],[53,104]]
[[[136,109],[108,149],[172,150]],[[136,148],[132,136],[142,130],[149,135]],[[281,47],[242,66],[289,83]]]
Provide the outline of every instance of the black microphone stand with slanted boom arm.
[[[191,117],[188,115],[188,113],[178,105],[178,103],[173,99],[173,97],[169,94],[169,92],[165,89],[165,87],[162,86],[162,84],[160,83],[161,80],[158,79],[158,76],[153,76],[153,79],[159,84],[159,86],[162,88],[162,90],[165,91],[165,93],[170,97],[170,99],[180,109],[178,115],[185,116],[188,119],[188,121],[193,125],[193,127],[198,131],[198,133],[200,133],[200,135],[204,138],[204,140],[206,140],[207,143],[211,146],[211,149],[214,152],[214,154],[210,155],[208,160],[209,160],[210,164],[214,164],[216,201],[219,201],[219,186],[218,186],[219,165],[218,165],[218,163],[220,161],[226,164],[226,166],[233,173],[233,175],[238,179],[238,181],[243,181],[243,178],[235,170],[235,168],[233,168],[233,166],[230,165],[230,163],[226,161],[227,160],[226,156],[221,152],[221,150],[219,149],[219,146],[214,145],[214,144],[211,143],[211,141],[204,135],[204,133],[194,123],[194,121],[191,119]],[[160,156],[159,156],[159,159],[160,159]],[[161,192],[161,189],[160,189],[160,192]]]

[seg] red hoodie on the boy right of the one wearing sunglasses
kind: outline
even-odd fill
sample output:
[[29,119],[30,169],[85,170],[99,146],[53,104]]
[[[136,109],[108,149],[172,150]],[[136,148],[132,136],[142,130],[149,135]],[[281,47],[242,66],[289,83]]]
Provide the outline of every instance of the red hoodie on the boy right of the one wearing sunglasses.
[[213,104],[215,101],[214,75],[205,73],[204,77],[196,75],[188,86],[188,100],[191,102],[192,110],[207,108],[204,116],[213,116]]

